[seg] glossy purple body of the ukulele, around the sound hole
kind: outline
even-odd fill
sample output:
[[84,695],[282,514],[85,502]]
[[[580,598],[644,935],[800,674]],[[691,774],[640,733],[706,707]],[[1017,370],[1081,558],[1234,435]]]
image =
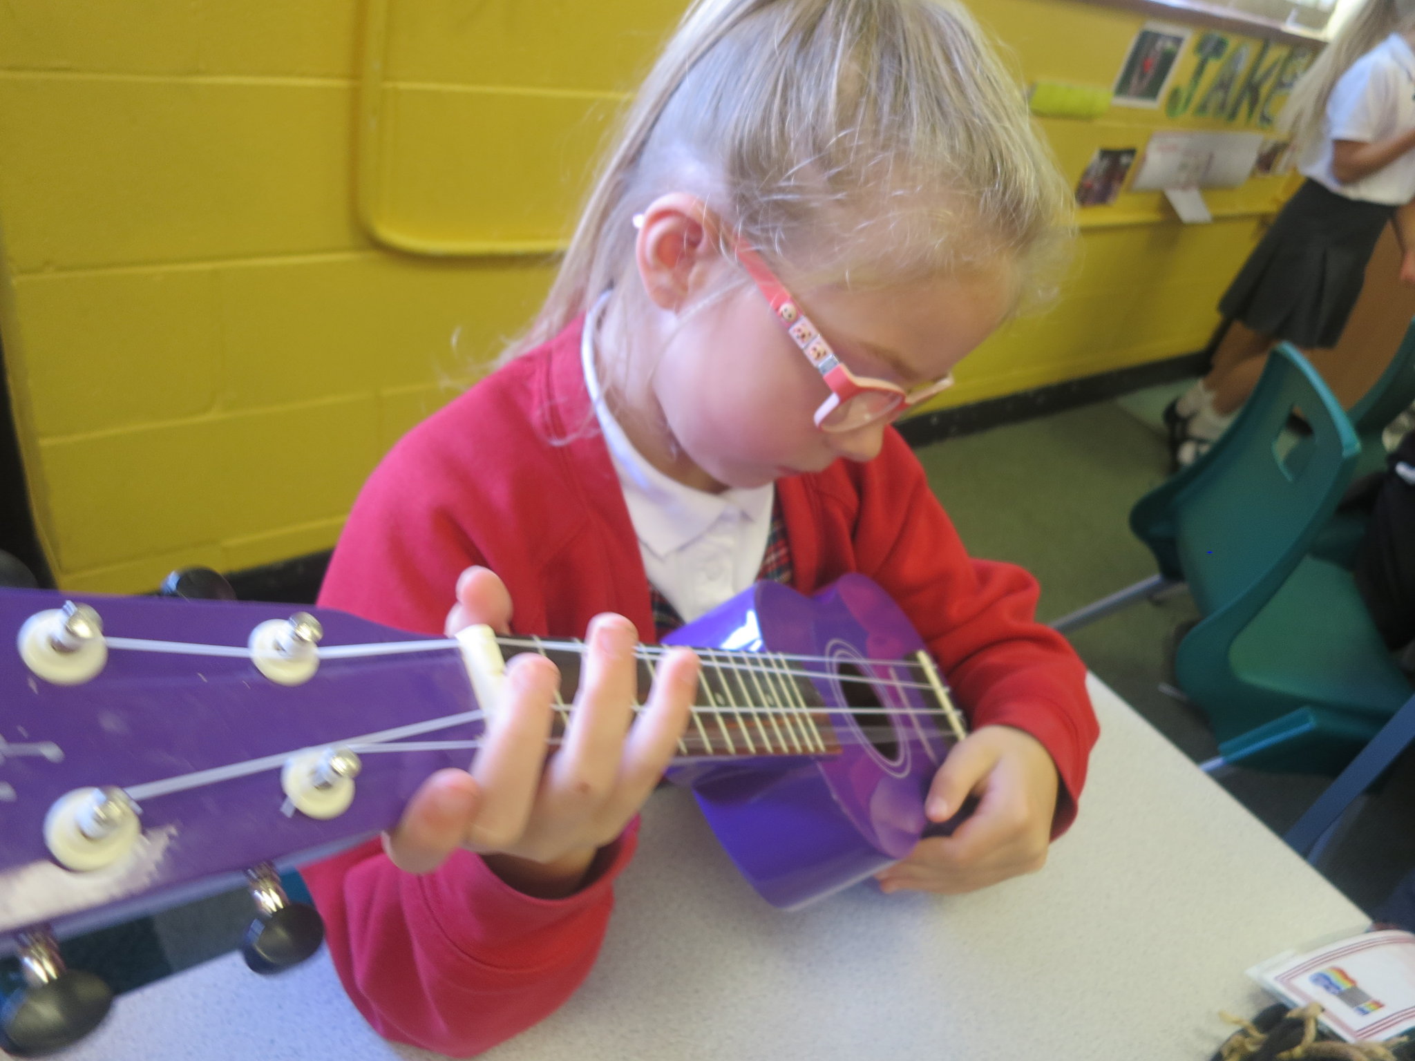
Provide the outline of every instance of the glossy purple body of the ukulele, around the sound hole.
[[[780,583],[747,593],[675,631],[668,644],[819,655],[841,663],[904,659],[924,648],[908,618],[873,581],[848,574],[814,598]],[[825,703],[845,707],[826,663],[812,682]],[[863,666],[862,666],[863,669]],[[914,682],[903,669],[877,678]],[[924,690],[873,686],[890,709],[937,710]],[[890,713],[897,751],[886,758],[863,740],[848,710],[831,714],[838,757],[782,764],[737,764],[675,774],[691,784],[713,832],[743,876],[787,910],[829,895],[907,854],[928,821],[924,795],[948,751],[941,730],[920,714]]]

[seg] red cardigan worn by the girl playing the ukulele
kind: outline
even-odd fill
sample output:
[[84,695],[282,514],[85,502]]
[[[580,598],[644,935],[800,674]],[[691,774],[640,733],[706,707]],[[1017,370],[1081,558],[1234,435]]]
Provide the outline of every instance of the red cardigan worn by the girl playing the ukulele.
[[[972,724],[1026,730],[1061,777],[1053,833],[1075,816],[1097,726],[1084,668],[1033,621],[1036,581],[964,552],[903,439],[867,464],[777,482],[794,586],[880,583],[942,665]],[[457,574],[505,581],[519,634],[580,637],[617,611],[654,639],[648,581],[580,369],[580,324],[410,431],[359,494],[320,603],[440,634]],[[631,828],[576,895],[536,900],[467,852],[395,869],[376,842],[306,870],[350,997],[389,1038],[466,1057],[553,1011],[589,973],[633,854]]]

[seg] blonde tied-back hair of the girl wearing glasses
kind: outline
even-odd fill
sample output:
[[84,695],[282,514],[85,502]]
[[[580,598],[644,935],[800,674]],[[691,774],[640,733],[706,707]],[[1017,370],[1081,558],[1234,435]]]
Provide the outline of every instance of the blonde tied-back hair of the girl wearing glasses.
[[1026,284],[1070,235],[1070,190],[1022,86],[961,6],[695,0],[507,356],[627,279],[633,216],[668,191],[698,195],[785,274],[818,282],[889,283],[1010,253]]

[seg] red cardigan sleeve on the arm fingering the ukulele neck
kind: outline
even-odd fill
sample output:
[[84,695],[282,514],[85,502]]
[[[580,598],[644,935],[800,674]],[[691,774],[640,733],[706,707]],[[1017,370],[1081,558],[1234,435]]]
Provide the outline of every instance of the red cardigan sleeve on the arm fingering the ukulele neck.
[[[457,574],[484,563],[437,464],[413,446],[365,485],[320,603],[440,635]],[[591,883],[539,900],[470,852],[403,873],[378,842],[306,867],[330,955],[351,1000],[382,1036],[454,1057],[491,1048],[558,1009],[589,973],[613,907],[611,883],[635,826],[600,852]]]

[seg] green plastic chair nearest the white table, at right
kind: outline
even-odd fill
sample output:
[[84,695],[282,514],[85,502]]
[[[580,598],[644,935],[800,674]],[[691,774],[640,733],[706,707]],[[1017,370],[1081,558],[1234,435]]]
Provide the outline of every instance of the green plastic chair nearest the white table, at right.
[[[1300,454],[1283,426],[1300,409]],[[1351,481],[1356,430],[1289,344],[1207,457],[1148,494],[1131,529],[1201,620],[1174,656],[1224,763],[1336,772],[1412,695],[1350,572],[1310,555]]]

